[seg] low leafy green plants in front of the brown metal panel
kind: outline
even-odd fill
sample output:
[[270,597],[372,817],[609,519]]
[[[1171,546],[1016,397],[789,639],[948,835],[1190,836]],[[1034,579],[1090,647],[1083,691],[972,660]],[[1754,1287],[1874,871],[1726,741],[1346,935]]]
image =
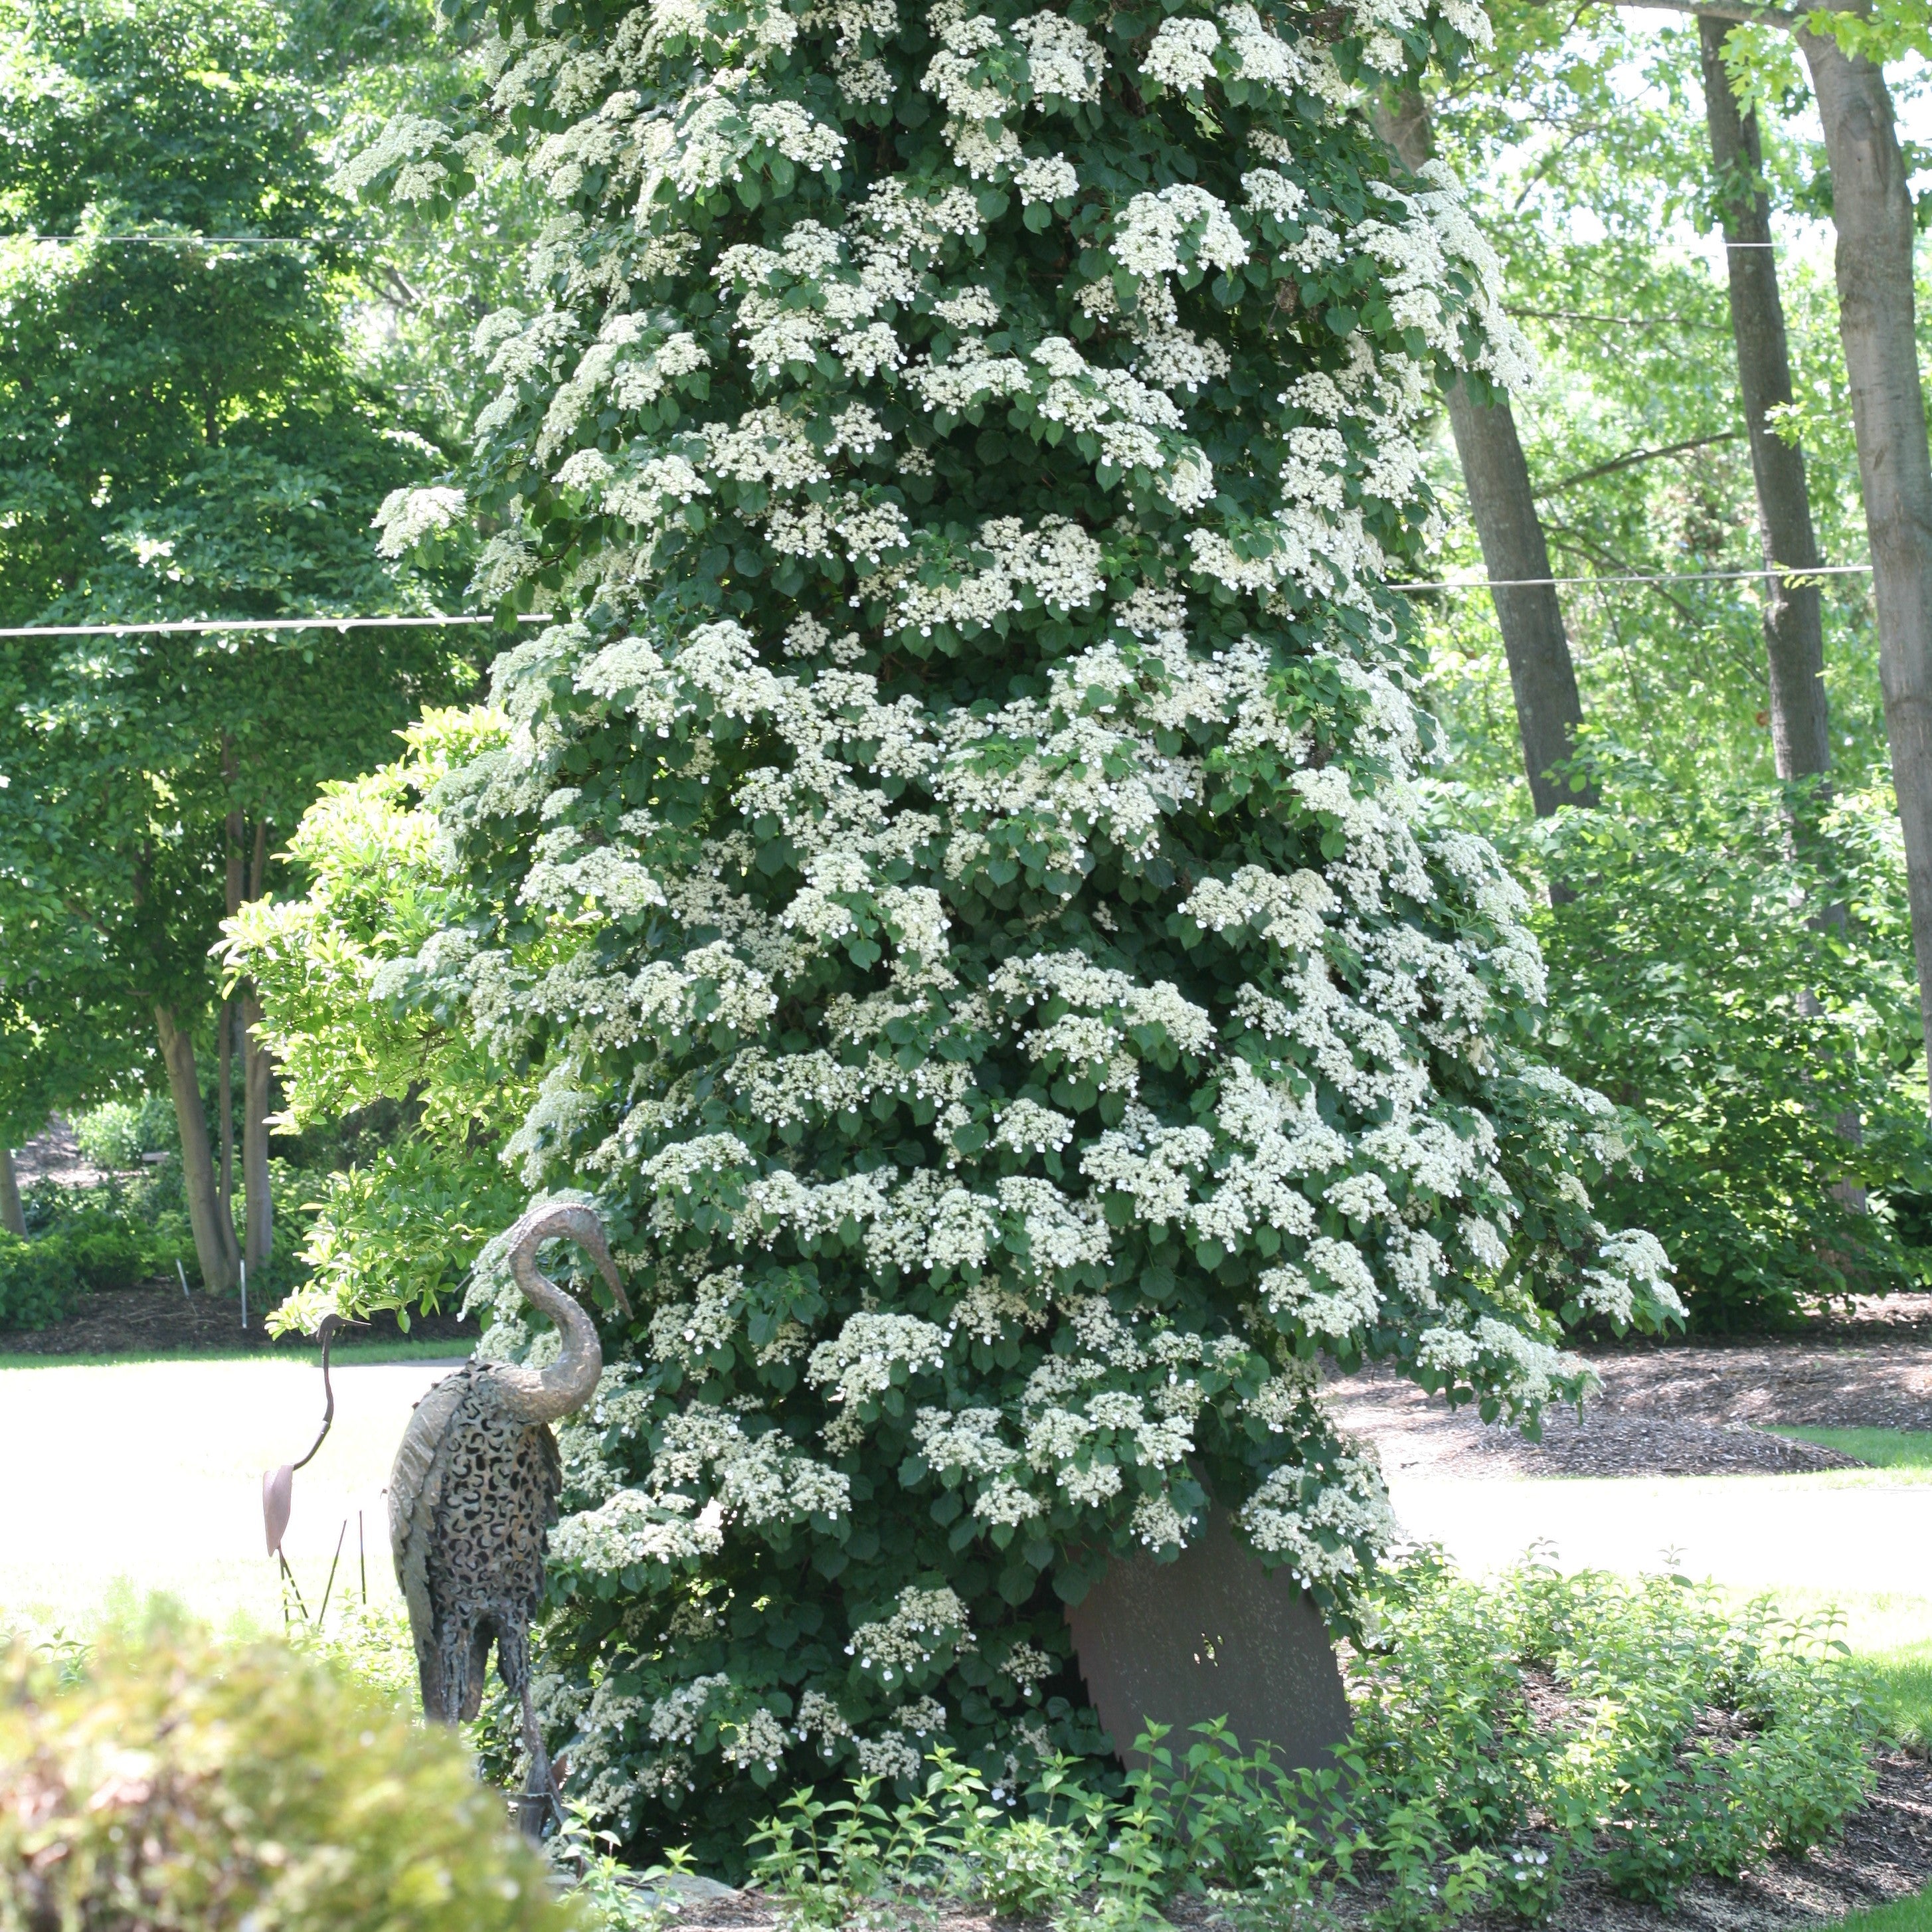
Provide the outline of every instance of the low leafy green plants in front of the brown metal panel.
[[952,1891],[1140,1926],[1213,1891],[1252,1932],[1337,1913],[1439,1932],[1544,1920],[1584,1872],[1669,1907],[1694,1876],[1830,1837],[1868,1789],[1862,1675],[1770,1604],[1731,1617],[1683,1578],[1538,1565],[1478,1586],[1428,1557],[1372,1604],[1333,1770],[1285,1774],[1225,1725],[1151,1727],[1144,1770],[1097,1789],[1051,1762],[1014,1804],[941,1752],[910,1804],[871,1779],[800,1791],[755,1833],[755,1870],[815,1924]]

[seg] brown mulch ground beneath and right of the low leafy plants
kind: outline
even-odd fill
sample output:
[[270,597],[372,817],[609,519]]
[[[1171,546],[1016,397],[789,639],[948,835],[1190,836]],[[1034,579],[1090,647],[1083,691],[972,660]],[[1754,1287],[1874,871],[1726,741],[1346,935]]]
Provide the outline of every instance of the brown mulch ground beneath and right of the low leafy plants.
[[[1633,1905],[1598,1884],[1573,1884],[1549,1926],[1553,1932],[1662,1932],[1665,1926],[1785,1932],[1787,1926],[1814,1926],[1911,1897],[1932,1882],[1932,1766],[1899,1752],[1880,1752],[1874,1770],[1878,1783],[1870,1803],[1851,1816],[1845,1835],[1833,1845],[1822,1845],[1803,1859],[1770,1859],[1735,1886],[1718,1878],[1694,1880],[1679,1893],[1673,1913]],[[680,1903],[680,1932],[736,1932],[781,1924],[777,1901],[755,1891],[686,1897]],[[1372,1903],[1362,1899],[1358,1911],[1345,1909],[1343,1922],[1366,1920]],[[1229,1924],[1198,1899],[1177,1899],[1169,1918],[1175,1926],[1200,1932],[1221,1932]],[[887,1909],[867,1915],[866,1922],[893,1932],[898,1926],[906,1932],[1003,1932],[1014,1926],[1010,1918],[995,1920],[985,1913],[949,1911],[943,1905],[904,1907],[896,1917]],[[1520,1920],[1511,1918],[1507,1924],[1520,1926]],[[1501,1926],[1503,1920],[1495,1920],[1492,1932],[1501,1932]]]

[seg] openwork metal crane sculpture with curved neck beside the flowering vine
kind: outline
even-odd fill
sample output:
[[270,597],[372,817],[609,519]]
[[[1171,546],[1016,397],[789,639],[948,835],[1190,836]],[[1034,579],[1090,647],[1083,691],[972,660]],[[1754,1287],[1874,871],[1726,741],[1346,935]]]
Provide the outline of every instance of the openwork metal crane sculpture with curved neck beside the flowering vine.
[[537,1248],[568,1235],[630,1318],[603,1223],[589,1208],[537,1208],[510,1231],[510,1273],[524,1300],[562,1335],[549,1368],[466,1362],[417,1405],[388,1478],[388,1538],[410,1607],[423,1714],[473,1718],[489,1650],[524,1706],[529,1779],[522,1828],[539,1837],[554,1801],[551,1762],[529,1698],[529,1619],[543,1602],[543,1555],[556,1520],[562,1464],[551,1424],[597,1387],[603,1350],[591,1318],[537,1273]]

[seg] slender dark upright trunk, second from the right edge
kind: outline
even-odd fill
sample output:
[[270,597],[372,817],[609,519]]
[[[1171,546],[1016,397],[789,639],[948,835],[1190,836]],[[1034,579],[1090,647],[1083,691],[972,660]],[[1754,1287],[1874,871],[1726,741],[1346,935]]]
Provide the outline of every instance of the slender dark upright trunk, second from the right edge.
[[1832,769],[1832,719],[1824,696],[1824,612],[1816,583],[1791,585],[1783,570],[1816,570],[1804,454],[1772,433],[1770,412],[1791,402],[1791,354],[1785,307],[1777,294],[1772,207],[1764,195],[1764,156],[1756,114],[1739,112],[1723,43],[1731,23],[1698,17],[1704,56],[1704,122],[1718,176],[1731,290],[1731,338],[1737,386],[1750,433],[1750,473],[1758,491],[1758,535],[1764,543],[1764,655],[1772,684],[1772,757],[1779,779],[1820,777]]

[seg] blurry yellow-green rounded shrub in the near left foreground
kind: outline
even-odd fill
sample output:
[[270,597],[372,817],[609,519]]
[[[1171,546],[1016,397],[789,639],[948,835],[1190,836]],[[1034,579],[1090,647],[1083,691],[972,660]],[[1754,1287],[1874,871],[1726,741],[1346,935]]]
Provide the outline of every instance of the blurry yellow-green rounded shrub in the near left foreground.
[[0,1663],[4,1932],[576,1922],[454,1737],[282,1646]]

